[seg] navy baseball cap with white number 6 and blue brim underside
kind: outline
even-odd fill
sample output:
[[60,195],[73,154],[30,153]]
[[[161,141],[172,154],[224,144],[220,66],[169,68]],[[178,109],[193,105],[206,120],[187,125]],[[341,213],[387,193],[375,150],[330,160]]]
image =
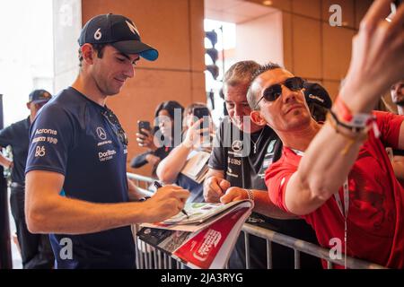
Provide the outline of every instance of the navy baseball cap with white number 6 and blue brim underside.
[[124,54],[139,54],[154,61],[159,52],[143,43],[136,25],[127,17],[116,14],[102,14],[85,23],[78,39],[80,47],[85,43],[110,44]]

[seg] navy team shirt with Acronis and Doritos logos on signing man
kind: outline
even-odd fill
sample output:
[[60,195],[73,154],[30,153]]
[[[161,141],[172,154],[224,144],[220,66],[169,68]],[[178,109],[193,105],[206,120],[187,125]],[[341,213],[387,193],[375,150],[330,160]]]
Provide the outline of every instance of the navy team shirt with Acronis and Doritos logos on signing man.
[[[66,197],[99,204],[127,202],[127,146],[102,115],[105,111],[72,87],[61,91],[32,123],[26,173],[48,170],[64,175]],[[135,263],[129,226],[51,234],[50,239],[57,268],[131,268]],[[66,256],[68,239],[73,243],[71,259]]]

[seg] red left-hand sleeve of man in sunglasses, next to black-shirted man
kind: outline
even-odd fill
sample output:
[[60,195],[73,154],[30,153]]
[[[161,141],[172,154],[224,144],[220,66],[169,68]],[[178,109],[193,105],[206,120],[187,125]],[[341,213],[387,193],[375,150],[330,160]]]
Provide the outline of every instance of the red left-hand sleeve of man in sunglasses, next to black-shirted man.
[[265,172],[265,183],[271,202],[290,213],[285,204],[285,190],[289,179],[297,170],[297,165],[286,163],[283,159],[271,164]]

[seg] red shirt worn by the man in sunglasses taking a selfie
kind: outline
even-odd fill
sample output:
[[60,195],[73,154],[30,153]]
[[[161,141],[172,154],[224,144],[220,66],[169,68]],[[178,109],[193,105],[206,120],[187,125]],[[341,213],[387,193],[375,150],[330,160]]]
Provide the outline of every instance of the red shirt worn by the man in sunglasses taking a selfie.
[[[379,265],[403,268],[404,191],[394,176],[384,146],[398,147],[404,117],[385,112],[374,114],[381,131],[380,139],[375,138],[373,131],[369,132],[369,138],[360,148],[348,174],[347,255]],[[266,172],[269,197],[285,211],[285,189],[301,158],[284,147],[281,159]],[[338,194],[344,204],[342,187]],[[339,239],[345,253],[344,217],[335,196],[302,217],[316,231],[321,246],[333,248],[336,241],[331,239]]]

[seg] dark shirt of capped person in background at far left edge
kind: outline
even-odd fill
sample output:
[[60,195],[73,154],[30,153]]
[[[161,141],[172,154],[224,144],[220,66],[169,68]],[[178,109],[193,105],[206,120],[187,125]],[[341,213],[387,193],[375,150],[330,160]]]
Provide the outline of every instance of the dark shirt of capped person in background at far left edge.
[[27,162],[29,144],[30,117],[7,126],[0,131],[0,146],[11,145],[13,149],[13,182],[24,185],[25,163]]

